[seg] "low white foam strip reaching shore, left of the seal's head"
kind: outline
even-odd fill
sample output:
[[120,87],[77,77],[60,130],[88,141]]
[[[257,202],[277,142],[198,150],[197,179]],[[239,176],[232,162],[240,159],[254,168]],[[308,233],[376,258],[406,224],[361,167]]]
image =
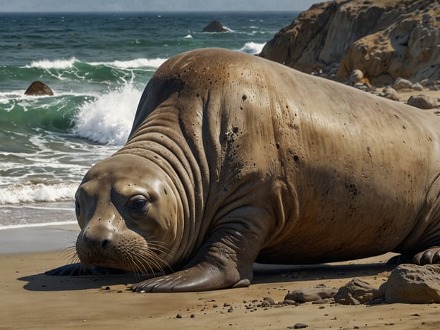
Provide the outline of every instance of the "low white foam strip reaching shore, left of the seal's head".
[[77,188],[77,183],[9,185],[6,188],[0,188],[0,204],[73,200]]

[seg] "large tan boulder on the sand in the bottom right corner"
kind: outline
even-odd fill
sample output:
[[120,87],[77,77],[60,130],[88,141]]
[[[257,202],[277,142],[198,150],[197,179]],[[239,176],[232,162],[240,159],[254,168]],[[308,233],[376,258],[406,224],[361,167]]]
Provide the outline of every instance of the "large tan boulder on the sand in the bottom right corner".
[[389,303],[440,303],[440,264],[400,264],[379,290]]

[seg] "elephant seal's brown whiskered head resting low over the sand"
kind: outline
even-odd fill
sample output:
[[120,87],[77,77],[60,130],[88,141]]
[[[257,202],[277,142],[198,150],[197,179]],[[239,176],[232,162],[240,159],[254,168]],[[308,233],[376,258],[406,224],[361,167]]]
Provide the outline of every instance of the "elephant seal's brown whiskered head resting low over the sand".
[[157,164],[136,155],[92,166],[75,195],[81,262],[141,274],[172,266],[181,216],[169,182]]

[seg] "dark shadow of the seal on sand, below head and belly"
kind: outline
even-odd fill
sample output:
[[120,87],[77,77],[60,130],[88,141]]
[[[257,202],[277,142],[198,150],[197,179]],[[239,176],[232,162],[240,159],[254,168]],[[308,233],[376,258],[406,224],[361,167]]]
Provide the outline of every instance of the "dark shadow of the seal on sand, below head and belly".
[[[352,279],[358,276],[374,276],[391,271],[396,265],[385,263],[372,264],[313,264],[313,265],[268,265],[254,264],[252,284],[279,282],[312,281],[317,279]],[[99,275],[99,276],[49,276],[35,274],[18,278],[27,282],[23,286],[28,291],[71,291],[106,286],[126,286],[142,281],[135,274]]]

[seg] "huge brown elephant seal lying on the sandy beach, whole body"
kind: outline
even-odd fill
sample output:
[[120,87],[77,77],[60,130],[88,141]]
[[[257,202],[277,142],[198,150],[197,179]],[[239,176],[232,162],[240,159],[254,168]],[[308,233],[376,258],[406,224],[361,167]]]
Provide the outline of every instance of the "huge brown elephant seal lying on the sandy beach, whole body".
[[248,286],[252,264],[440,261],[440,118],[279,63],[189,51],[76,193],[85,265],[133,291]]

